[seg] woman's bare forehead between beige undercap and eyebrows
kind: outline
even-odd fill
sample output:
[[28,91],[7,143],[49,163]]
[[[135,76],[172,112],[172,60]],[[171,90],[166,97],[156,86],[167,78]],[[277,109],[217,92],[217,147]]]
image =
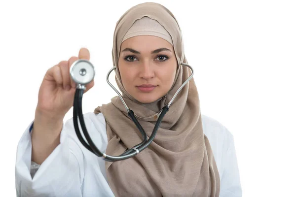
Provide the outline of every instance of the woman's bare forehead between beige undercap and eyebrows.
[[168,48],[173,51],[173,46],[165,39],[154,35],[137,35],[124,40],[121,49],[132,48],[140,51],[151,51],[158,48]]

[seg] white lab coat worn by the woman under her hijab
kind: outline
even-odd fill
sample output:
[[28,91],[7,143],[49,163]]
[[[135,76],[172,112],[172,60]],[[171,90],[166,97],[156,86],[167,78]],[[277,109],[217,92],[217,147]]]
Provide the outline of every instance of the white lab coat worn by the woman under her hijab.
[[[108,140],[103,114],[86,113],[83,116],[94,143],[105,152]],[[17,147],[15,184],[18,197],[114,196],[106,179],[105,161],[80,143],[74,130],[73,118],[64,123],[60,144],[39,166],[32,178],[30,174],[32,124],[33,121],[23,133]],[[221,123],[205,115],[202,115],[202,125],[219,170],[220,197],[241,197],[242,190],[232,134]]]

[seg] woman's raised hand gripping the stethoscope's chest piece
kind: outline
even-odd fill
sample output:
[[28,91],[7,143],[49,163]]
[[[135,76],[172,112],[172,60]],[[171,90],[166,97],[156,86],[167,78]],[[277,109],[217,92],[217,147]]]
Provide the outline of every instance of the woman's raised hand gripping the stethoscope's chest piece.
[[[89,61],[90,54],[86,48],[79,50],[78,57],[71,57],[68,61],[61,61],[49,68],[41,83],[36,114],[42,114],[42,119],[52,122],[63,120],[66,113],[73,106],[76,84],[70,76],[70,68],[78,59]],[[94,86],[94,80],[86,85],[86,93]],[[46,122],[46,121],[45,121]]]

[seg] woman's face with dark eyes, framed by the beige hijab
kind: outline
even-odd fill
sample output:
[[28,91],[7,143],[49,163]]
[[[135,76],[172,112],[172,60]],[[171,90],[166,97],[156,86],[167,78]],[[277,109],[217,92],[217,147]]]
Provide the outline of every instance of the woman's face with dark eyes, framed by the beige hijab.
[[139,35],[121,43],[118,67],[125,90],[138,101],[150,103],[171,89],[177,59],[165,39]]

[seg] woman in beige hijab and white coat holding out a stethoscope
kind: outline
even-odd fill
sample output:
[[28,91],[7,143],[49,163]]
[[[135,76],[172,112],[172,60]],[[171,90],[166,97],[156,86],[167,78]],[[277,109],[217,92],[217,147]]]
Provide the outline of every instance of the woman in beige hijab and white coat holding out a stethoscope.
[[[112,57],[123,98],[150,136],[157,112],[190,75],[181,66],[186,58],[173,14],[158,3],[130,8],[116,24]],[[88,51],[81,49],[78,58],[89,59]],[[193,79],[174,100],[153,142],[137,156],[111,163],[84,148],[73,119],[63,124],[75,92],[69,66],[78,58],[53,66],[40,86],[34,128],[30,124],[18,145],[18,196],[241,196],[232,136],[201,115]],[[108,155],[142,141],[118,97],[84,119],[93,141]]]

